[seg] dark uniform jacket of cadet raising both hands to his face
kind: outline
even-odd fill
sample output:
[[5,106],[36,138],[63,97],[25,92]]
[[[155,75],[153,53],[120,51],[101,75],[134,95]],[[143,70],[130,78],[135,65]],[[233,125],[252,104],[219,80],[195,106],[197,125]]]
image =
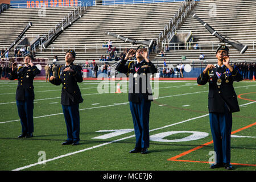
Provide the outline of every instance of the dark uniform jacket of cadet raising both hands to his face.
[[[147,63],[145,60],[141,63],[130,61],[126,64],[126,62],[127,60],[123,58],[116,69],[121,73],[129,75],[129,101],[138,103],[141,101],[141,98],[144,98],[145,101],[152,101],[152,90],[148,73],[154,74],[158,71],[155,65],[151,61]],[[137,77],[134,77],[135,73],[137,73]]]

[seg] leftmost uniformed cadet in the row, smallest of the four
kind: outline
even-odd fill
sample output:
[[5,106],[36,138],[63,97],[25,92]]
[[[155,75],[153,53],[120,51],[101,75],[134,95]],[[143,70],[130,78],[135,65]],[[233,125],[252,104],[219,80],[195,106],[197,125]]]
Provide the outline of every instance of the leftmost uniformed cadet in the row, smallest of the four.
[[22,125],[22,134],[19,138],[33,137],[34,122],[33,122],[33,109],[34,109],[34,86],[33,80],[40,70],[32,63],[34,57],[28,55],[24,57],[24,66],[16,68],[16,63],[13,63],[10,80],[18,79],[18,86],[16,89],[16,105],[20,123]]

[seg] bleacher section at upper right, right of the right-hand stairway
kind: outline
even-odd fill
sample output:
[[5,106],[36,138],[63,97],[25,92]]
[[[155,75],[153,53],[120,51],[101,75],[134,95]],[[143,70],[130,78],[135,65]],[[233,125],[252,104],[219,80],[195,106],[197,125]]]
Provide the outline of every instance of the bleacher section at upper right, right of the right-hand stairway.
[[[194,44],[198,43],[199,49],[193,49],[193,45],[190,48],[177,49],[176,45],[175,50],[172,49],[166,52],[164,57],[157,55],[155,57],[157,63],[162,63],[163,65],[164,59],[166,59],[167,64],[174,66],[181,62],[183,64],[193,64],[195,67],[200,67],[202,64],[205,65],[207,63],[216,63],[215,51],[220,42],[200,22],[192,17],[193,14],[199,16],[220,34],[249,46],[243,55],[233,47],[229,47],[230,60],[233,63],[256,61],[256,1],[216,0],[197,2],[188,18],[177,28],[180,31],[191,31]],[[232,39],[229,40],[234,42]],[[162,49],[164,49],[164,45]],[[199,60],[201,53],[205,55],[203,62]],[[182,56],[185,56],[186,60],[182,60]]]

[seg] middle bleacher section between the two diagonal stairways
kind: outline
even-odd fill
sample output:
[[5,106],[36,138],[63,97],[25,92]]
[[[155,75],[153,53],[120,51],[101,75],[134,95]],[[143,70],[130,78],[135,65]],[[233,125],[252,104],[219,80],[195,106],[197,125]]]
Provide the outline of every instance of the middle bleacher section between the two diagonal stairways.
[[134,39],[156,39],[182,4],[183,2],[171,2],[92,6],[46,51],[38,54],[41,57],[57,55],[61,59],[64,58],[63,49],[70,47],[76,49],[77,63],[99,60],[101,55],[107,55],[107,48],[102,48],[105,40],[112,40],[113,47],[117,47],[118,51],[121,47],[121,52],[125,47],[132,46],[107,35],[108,31]]

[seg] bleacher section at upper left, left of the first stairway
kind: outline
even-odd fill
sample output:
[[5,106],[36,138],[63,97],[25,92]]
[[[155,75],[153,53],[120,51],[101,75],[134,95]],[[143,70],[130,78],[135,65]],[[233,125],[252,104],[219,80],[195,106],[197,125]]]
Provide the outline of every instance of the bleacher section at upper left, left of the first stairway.
[[0,48],[8,48],[28,22],[32,23],[32,27],[26,32],[26,36],[36,38],[38,35],[48,34],[73,9],[74,7],[7,9],[0,14]]

